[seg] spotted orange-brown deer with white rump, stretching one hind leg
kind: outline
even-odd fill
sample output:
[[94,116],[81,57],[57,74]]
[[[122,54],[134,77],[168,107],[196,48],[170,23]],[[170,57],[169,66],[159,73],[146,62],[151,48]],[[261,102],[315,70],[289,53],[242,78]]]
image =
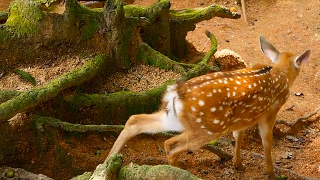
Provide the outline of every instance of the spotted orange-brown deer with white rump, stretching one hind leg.
[[258,124],[264,149],[265,172],[279,178],[272,165],[272,128],[276,114],[289,96],[289,88],[308,61],[310,49],[296,55],[278,51],[262,35],[261,51],[272,65],[255,64],[238,70],[212,72],[168,85],[159,110],[131,115],[106,159],[120,151],[133,136],[163,131],[181,132],[164,141],[167,163],[178,166],[181,151],[197,149],[232,131],[233,164],[243,170],[240,146],[245,129]]

